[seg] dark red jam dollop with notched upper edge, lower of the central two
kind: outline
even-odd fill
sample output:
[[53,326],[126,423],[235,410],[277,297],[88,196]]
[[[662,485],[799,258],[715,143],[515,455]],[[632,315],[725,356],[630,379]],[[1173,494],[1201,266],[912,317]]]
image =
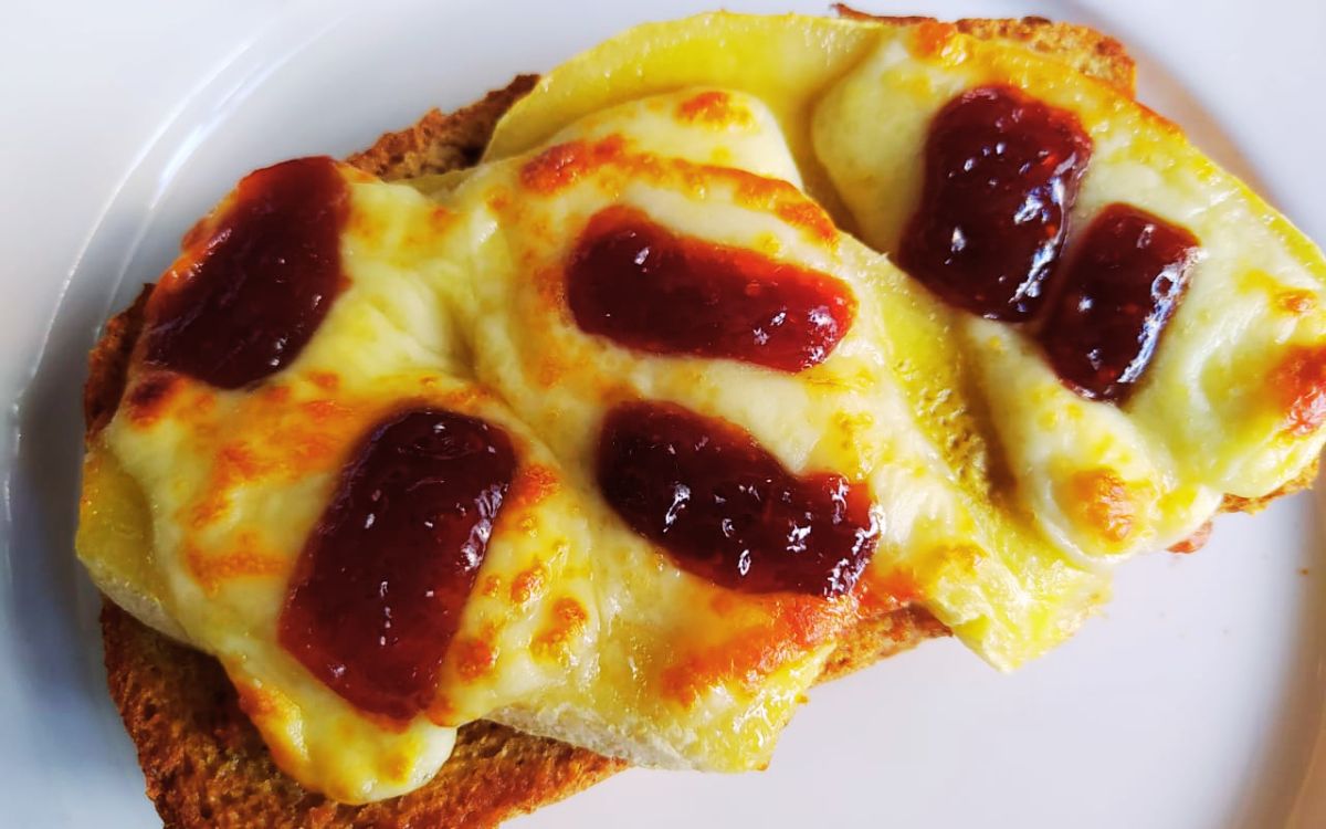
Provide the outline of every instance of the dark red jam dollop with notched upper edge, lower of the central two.
[[598,484],[683,569],[747,593],[834,597],[857,584],[878,527],[865,485],[796,476],[737,426],[672,403],[609,413]]

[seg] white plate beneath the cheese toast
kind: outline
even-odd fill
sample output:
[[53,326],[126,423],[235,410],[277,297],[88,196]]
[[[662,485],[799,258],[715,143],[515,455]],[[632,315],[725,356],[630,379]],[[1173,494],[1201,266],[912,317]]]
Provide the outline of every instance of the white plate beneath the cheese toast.
[[[243,172],[343,154],[631,23],[709,5],[720,4],[7,9],[0,393],[19,403],[0,458],[0,825],[156,822],[70,550],[78,389],[97,325]],[[1155,0],[866,5],[1040,13],[1119,34],[1146,102],[1326,239],[1319,0],[1208,1],[1191,19],[1196,8]],[[1311,768],[1326,690],[1317,515],[1309,496],[1286,499],[1221,519],[1197,556],[1126,566],[1107,614],[1013,676],[941,642],[817,688],[762,775],[631,771],[517,825],[1326,825],[1326,759]]]

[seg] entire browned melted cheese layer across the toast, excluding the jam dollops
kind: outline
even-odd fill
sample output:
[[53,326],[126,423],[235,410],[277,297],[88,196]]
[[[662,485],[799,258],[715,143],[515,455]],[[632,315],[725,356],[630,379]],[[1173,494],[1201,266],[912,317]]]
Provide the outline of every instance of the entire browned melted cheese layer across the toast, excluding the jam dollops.
[[[918,198],[930,117],[996,80],[1091,131],[1077,227],[1122,199],[1203,239],[1124,407],[1078,398],[1024,332],[948,309],[884,255]],[[337,800],[420,785],[477,718],[636,763],[768,761],[859,596],[720,589],[633,533],[593,478],[614,402],[674,401],[793,472],[869,483],[882,535],[867,590],[919,596],[1005,669],[1099,606],[1106,565],[1191,533],[1227,492],[1273,491],[1323,440],[1290,411],[1326,379],[1319,252],[1116,92],[951,29],[642,27],[546,76],[467,174],[418,188],[343,174],[349,288],[298,359],[239,391],[135,359],[88,455],[78,535],[102,589],[219,657],[277,764]],[[855,322],[794,375],[587,336],[562,268],[610,204],[830,273]],[[520,468],[434,704],[392,728],[305,671],[276,619],[347,454],[410,402],[501,426]]]

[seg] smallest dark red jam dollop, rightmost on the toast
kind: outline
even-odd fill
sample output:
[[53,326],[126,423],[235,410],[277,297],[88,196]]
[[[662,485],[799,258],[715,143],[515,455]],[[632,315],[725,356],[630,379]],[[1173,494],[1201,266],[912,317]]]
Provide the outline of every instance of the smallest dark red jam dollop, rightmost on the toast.
[[1127,397],[1183,297],[1200,244],[1136,207],[1102,210],[1078,243],[1041,329],[1059,377],[1089,398]]

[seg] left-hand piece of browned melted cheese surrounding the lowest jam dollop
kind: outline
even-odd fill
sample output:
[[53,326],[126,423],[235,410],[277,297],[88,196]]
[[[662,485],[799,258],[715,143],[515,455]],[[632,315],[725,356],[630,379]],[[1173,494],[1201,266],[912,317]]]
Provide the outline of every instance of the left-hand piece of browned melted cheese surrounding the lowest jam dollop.
[[[347,171],[351,174],[351,171]],[[349,288],[288,370],[255,391],[223,391],[135,366],[121,411],[89,455],[89,480],[113,464],[146,499],[85,499],[84,532],[134,521],[119,548],[81,539],[84,557],[135,561],[139,593],[158,597],[167,633],[217,655],[245,711],[286,772],[343,801],[398,795],[447,759],[452,726],[575,679],[591,641],[587,573],[568,568],[587,527],[556,460],[491,393],[467,382],[459,333],[442,296],[455,281],[444,248],[451,215],[406,187],[351,184],[341,240]],[[442,232],[439,232],[442,231]],[[518,442],[521,467],[491,540],[483,581],[467,605],[444,688],[430,718],[403,731],[361,715],[276,642],[296,558],[359,436],[410,402],[483,416]],[[123,487],[125,481],[119,485]],[[123,489],[121,489],[123,491]],[[139,505],[142,504],[142,505]],[[137,517],[146,507],[149,523]],[[150,535],[149,535],[150,533]],[[146,536],[146,537],[142,537]],[[131,537],[131,536],[130,536]],[[143,565],[147,565],[146,568]],[[542,586],[533,582],[538,573]],[[511,585],[525,578],[525,589]],[[501,590],[489,585],[505,582]],[[557,653],[532,643],[574,602],[581,630]],[[130,609],[134,609],[130,605]],[[143,614],[141,614],[143,615]]]

